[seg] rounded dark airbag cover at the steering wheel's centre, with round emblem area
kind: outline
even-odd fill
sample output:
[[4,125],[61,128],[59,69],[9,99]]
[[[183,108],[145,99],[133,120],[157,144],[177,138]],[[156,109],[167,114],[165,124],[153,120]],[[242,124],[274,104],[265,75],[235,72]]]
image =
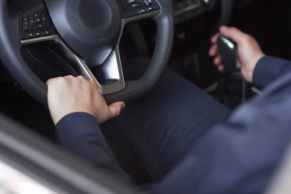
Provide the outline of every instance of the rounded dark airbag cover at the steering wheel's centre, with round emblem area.
[[89,66],[101,65],[116,44],[121,16],[116,0],[45,0],[56,30]]

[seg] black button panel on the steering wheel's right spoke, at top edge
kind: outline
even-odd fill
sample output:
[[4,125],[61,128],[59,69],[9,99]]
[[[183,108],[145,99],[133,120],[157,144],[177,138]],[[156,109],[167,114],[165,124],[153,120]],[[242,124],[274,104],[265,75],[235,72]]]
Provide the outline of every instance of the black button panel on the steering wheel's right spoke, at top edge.
[[154,0],[120,0],[126,13],[125,17],[137,16],[160,9]]

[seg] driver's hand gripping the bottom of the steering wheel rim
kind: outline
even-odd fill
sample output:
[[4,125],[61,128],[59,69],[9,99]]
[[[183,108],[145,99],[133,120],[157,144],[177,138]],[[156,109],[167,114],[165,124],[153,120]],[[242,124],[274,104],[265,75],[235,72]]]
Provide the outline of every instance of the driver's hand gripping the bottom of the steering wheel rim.
[[124,102],[107,105],[94,81],[73,76],[47,81],[51,118],[56,125],[65,115],[76,112],[92,114],[99,124],[118,116]]

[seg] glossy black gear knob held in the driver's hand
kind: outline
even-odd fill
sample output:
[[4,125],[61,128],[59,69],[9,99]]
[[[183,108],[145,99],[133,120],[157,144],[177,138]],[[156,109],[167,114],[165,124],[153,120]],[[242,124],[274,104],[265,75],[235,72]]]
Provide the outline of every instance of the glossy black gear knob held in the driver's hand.
[[224,73],[235,72],[237,70],[236,61],[238,58],[237,45],[223,35],[218,37],[217,45],[222,64],[224,65]]

